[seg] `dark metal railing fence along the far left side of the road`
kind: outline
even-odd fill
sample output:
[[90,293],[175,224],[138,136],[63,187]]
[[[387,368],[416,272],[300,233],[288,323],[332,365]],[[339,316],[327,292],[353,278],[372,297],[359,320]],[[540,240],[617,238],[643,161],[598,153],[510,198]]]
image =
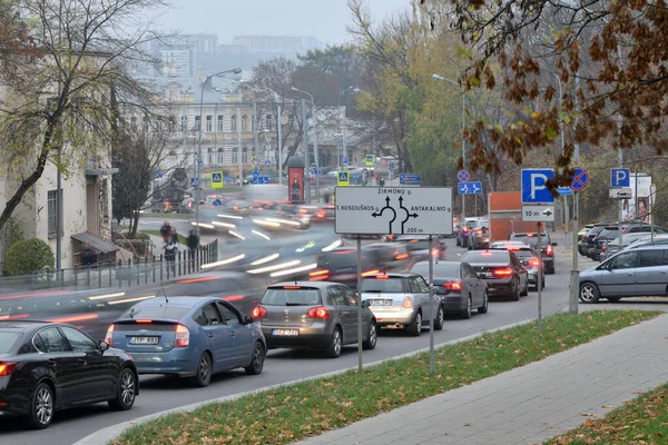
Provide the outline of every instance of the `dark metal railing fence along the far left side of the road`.
[[125,288],[161,283],[202,270],[202,265],[218,259],[218,240],[196,250],[179,250],[174,259],[165,255],[78,266],[70,269],[43,269],[31,275],[0,277],[0,293],[38,289]]

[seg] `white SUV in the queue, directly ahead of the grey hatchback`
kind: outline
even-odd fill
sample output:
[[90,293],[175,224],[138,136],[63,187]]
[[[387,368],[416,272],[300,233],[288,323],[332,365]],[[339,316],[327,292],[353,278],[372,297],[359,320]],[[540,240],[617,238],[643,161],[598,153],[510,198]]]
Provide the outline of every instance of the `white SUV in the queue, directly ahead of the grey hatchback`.
[[380,328],[406,329],[419,336],[430,318],[434,329],[443,328],[443,307],[431,298],[430,289],[420,274],[392,273],[367,275],[362,278],[360,296],[371,304]]

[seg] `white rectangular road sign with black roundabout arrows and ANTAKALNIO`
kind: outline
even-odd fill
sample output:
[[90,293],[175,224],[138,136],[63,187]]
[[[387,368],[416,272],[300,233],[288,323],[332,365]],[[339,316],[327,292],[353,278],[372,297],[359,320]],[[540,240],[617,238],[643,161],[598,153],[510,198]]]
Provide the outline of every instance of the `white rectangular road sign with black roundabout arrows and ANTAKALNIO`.
[[452,235],[451,187],[336,187],[336,233]]

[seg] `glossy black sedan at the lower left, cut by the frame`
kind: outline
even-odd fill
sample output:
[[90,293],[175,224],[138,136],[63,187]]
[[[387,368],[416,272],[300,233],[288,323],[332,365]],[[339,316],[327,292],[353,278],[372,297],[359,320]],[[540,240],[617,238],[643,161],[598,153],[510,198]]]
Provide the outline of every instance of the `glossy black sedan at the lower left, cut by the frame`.
[[63,323],[0,322],[0,415],[42,429],[57,411],[100,402],[127,411],[138,395],[125,352]]

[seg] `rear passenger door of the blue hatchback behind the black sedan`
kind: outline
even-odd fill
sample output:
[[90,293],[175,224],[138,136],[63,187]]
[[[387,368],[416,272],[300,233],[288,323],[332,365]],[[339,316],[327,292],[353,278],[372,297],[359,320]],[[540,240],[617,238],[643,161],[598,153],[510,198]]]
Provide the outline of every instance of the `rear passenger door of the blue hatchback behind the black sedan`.
[[223,320],[218,308],[214,301],[204,305],[194,317],[195,322],[202,326],[202,330],[206,336],[203,345],[214,354],[214,372],[230,369],[233,367],[232,353],[234,349],[234,337],[229,332],[229,327]]

